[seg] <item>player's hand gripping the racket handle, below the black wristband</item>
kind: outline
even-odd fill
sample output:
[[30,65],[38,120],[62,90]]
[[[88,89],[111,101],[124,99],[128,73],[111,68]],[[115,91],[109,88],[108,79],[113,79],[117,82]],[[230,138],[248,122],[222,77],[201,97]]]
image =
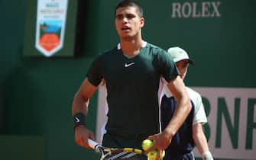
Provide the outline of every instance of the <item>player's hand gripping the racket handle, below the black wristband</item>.
[[96,140],[92,131],[86,129],[86,126],[84,126],[84,125],[76,126],[76,129],[75,129],[76,143],[79,146],[83,146],[83,147],[90,149],[89,144],[88,144],[88,139],[92,139],[94,141]]

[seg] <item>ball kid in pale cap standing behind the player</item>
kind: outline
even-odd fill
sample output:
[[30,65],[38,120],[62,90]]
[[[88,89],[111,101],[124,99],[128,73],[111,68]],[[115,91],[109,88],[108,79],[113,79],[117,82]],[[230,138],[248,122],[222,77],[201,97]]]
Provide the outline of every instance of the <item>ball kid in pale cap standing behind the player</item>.
[[[193,64],[186,53],[180,47],[171,47],[168,50],[171,58],[176,62],[182,79],[186,77],[188,66]],[[206,136],[203,133],[203,124],[207,123],[206,113],[203,107],[201,95],[193,89],[186,87],[192,102],[192,110],[186,118],[183,125],[173,137],[170,146],[166,149],[164,160],[193,160],[193,148],[196,144],[203,160],[213,160],[211,152],[209,152]],[[167,88],[164,88],[164,95],[161,101],[161,122],[163,128],[168,125],[173,116],[173,112],[177,107],[177,101]]]

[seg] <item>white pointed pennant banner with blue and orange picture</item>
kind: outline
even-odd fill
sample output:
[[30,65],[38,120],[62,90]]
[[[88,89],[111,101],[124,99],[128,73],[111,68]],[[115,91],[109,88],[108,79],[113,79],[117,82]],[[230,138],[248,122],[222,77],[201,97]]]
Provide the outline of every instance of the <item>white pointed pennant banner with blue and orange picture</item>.
[[52,56],[63,47],[67,0],[37,0],[35,47]]

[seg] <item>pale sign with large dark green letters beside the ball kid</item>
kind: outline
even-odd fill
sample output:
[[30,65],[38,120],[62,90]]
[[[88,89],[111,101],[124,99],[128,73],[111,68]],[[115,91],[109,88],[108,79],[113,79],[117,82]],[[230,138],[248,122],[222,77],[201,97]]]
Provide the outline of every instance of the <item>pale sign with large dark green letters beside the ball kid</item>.
[[206,135],[214,157],[256,159],[256,88],[194,89],[208,110]]

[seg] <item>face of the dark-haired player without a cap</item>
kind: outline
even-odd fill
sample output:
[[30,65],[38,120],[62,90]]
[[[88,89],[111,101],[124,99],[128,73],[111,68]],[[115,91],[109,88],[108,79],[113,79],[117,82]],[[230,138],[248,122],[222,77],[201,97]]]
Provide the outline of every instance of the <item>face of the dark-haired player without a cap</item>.
[[140,18],[134,7],[118,8],[115,11],[115,27],[119,37],[133,39],[141,37],[141,27],[144,26],[144,18]]

